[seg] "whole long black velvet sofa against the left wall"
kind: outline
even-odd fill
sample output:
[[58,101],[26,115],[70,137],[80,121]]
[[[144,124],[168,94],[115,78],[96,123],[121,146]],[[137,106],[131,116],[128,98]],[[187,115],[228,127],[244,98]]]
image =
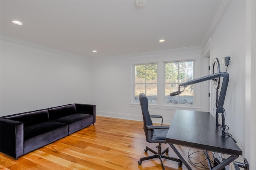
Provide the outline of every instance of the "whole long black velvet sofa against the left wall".
[[96,106],[68,104],[0,117],[0,151],[18,157],[96,121]]

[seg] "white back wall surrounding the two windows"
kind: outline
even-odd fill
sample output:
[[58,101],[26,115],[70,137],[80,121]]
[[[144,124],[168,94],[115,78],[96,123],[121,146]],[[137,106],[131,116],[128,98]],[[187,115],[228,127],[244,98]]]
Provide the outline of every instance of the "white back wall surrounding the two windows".
[[[109,58],[93,61],[93,103],[96,104],[96,114],[117,117],[122,119],[133,119],[142,121],[140,104],[132,104],[132,65],[142,63],[164,61],[195,60],[196,77],[202,76],[202,49],[190,47],[169,51],[158,51],[152,53],[140,53],[118,58]],[[158,70],[159,75],[163,70]],[[200,87],[201,86],[201,87]],[[178,89],[177,89],[178,90]],[[196,85],[197,99],[193,107],[173,107],[161,104],[149,106],[151,114],[160,114],[164,117],[164,123],[170,124],[176,109],[201,110],[202,107],[202,84]],[[158,86],[158,92],[164,89]],[[156,120],[153,120],[157,122]]]

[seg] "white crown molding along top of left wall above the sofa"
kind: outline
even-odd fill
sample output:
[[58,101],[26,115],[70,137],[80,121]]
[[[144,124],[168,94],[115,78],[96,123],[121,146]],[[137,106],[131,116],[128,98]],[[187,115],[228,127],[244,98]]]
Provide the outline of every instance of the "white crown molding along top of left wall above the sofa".
[[57,50],[57,49],[53,49],[53,48],[46,47],[46,46],[43,46],[43,45],[38,45],[38,44],[31,43],[31,42],[28,42],[28,41],[24,41],[24,40],[21,40],[21,39],[16,39],[16,38],[9,37],[9,36],[6,36],[6,35],[0,35],[0,39],[4,40],[4,41],[9,41],[9,42],[12,42],[12,43],[18,43],[18,44],[21,44],[21,45],[27,45],[27,46],[34,47],[34,48],[37,48],[37,49],[42,49],[42,50],[58,53],[58,54],[61,54],[61,55],[66,55],[68,57],[76,57],[76,58],[80,58],[80,59],[84,59],[84,60],[88,60],[88,61],[90,60],[89,58],[84,57],[84,56],[75,55],[75,54],[68,53],[68,52],[65,52],[65,51],[60,51],[60,50]]

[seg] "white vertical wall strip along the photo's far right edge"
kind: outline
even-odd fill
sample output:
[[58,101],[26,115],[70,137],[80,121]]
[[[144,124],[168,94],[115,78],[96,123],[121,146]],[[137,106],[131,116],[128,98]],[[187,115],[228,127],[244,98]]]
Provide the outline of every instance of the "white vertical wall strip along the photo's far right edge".
[[256,169],[256,1],[246,1],[245,157]]

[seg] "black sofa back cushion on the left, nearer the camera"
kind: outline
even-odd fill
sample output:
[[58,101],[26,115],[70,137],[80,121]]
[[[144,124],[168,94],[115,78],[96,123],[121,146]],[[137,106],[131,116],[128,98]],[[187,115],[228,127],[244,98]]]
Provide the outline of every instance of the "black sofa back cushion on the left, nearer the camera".
[[39,123],[44,123],[49,121],[48,110],[37,110],[37,111],[30,111],[26,113],[19,113],[16,115],[11,115],[5,117],[6,119],[20,121],[24,124],[24,127],[36,125]]

